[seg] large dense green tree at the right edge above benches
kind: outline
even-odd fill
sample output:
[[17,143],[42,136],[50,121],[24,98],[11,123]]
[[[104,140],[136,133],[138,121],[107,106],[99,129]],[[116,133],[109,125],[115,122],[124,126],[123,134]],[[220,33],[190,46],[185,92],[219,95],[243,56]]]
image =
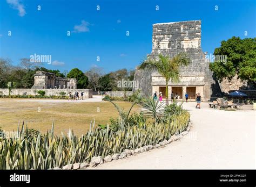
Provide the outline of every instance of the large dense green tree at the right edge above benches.
[[235,75],[238,78],[251,83],[256,81],[256,38],[240,39],[232,37],[227,41],[221,41],[221,46],[215,48],[217,55],[226,55],[226,61],[214,61],[210,63],[210,69],[218,80],[224,78],[231,80]]

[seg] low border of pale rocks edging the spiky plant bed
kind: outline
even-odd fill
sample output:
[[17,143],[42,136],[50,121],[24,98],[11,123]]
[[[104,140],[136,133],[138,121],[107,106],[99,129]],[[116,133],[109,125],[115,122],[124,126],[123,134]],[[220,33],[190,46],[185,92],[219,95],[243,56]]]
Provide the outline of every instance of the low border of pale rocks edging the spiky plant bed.
[[74,164],[68,164],[68,165],[64,166],[63,168],[55,167],[53,169],[85,169],[87,167],[96,167],[96,166],[98,166],[100,164],[103,164],[103,163],[106,163],[106,162],[111,162],[113,160],[118,160],[118,159],[124,159],[127,156],[147,152],[150,149],[164,147],[165,145],[171,143],[172,141],[179,140],[183,136],[185,136],[190,131],[190,126],[191,126],[191,123],[189,122],[188,127],[186,128],[186,131],[183,131],[180,134],[176,133],[176,134],[172,135],[169,140],[164,140],[164,141],[159,142],[158,144],[153,145],[153,146],[152,145],[147,145],[147,146],[139,147],[135,150],[125,149],[124,152],[122,152],[120,154],[116,153],[112,156],[107,155],[104,159],[102,158],[102,156],[97,156],[97,157],[93,156],[90,163],[87,163],[87,162],[74,163]]

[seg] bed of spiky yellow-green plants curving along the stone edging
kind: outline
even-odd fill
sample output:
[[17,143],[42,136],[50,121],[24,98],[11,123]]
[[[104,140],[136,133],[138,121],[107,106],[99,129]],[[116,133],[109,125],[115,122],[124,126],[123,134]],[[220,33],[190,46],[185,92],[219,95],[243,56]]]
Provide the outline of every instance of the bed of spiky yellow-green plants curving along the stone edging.
[[[31,134],[22,125],[22,130],[17,131],[17,138],[3,138],[0,141],[2,169],[48,169],[90,162],[93,156],[105,157],[121,153],[124,149],[155,145],[188,126],[190,114],[181,106],[174,103],[159,113],[155,111],[157,107],[150,103],[151,100],[146,99],[143,106],[148,111],[147,115],[140,113],[140,120],[134,118],[137,123],[131,125],[130,112],[124,112],[116,105],[120,115],[118,126],[112,128],[112,125],[106,125],[106,128],[102,128],[91,123],[89,131],[80,137],[71,130],[68,135],[62,134],[61,137],[53,135],[53,125],[46,134],[37,131]],[[154,122],[147,123],[149,118]]]

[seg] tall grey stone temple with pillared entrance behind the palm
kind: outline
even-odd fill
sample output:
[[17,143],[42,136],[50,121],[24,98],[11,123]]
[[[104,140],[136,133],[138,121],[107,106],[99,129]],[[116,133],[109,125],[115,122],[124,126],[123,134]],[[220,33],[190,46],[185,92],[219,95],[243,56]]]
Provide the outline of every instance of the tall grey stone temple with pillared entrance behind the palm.
[[[153,24],[152,52],[148,56],[158,59],[160,53],[173,57],[179,52],[186,52],[192,62],[180,68],[179,83],[168,83],[169,99],[172,91],[174,95],[178,94],[179,99],[183,99],[186,92],[191,99],[195,99],[199,92],[204,101],[221,96],[219,82],[214,80],[209,69],[210,62],[201,49],[200,20]],[[158,72],[136,67],[134,81],[139,82],[139,87],[133,91],[142,90],[145,95],[157,91],[163,93],[163,98],[166,97],[165,78]]]

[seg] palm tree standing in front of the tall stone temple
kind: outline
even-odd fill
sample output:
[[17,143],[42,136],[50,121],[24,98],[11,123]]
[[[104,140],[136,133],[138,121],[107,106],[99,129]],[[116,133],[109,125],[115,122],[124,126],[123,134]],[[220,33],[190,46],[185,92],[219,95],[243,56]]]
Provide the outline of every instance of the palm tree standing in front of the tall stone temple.
[[151,57],[147,58],[139,65],[139,69],[157,70],[165,78],[166,105],[169,105],[168,82],[171,80],[173,83],[178,83],[180,81],[180,66],[187,66],[191,60],[185,52],[180,52],[171,59],[169,56],[162,54],[159,54],[158,57],[159,60],[152,59]]

